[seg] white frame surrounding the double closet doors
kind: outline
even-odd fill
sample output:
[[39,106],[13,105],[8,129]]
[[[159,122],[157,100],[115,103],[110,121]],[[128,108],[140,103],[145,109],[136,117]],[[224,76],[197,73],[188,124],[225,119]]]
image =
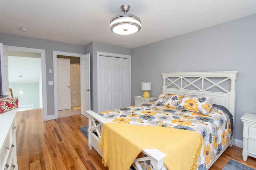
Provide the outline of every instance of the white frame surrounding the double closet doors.
[[106,53],[97,51],[97,93],[98,93],[98,104],[97,108],[98,111],[100,111],[100,55],[106,56],[106,57],[118,57],[118,58],[124,58],[128,59],[128,106],[131,105],[131,75],[132,75],[132,56],[131,55],[123,55],[123,54],[115,54],[115,53]]

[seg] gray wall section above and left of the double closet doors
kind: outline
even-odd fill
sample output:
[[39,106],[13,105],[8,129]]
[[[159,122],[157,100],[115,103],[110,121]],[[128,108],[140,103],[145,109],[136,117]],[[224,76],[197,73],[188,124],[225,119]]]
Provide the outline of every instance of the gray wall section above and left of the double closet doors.
[[131,55],[131,49],[109,45],[104,43],[92,42],[85,46],[86,54],[90,53],[91,63],[91,109],[98,112],[98,92],[97,92],[97,51],[105,53],[115,53]]

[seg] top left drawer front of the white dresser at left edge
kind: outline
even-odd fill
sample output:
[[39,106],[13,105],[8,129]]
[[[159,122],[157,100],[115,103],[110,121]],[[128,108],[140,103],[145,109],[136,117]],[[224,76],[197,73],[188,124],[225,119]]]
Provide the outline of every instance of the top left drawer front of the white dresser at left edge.
[[3,169],[8,153],[10,152],[11,146],[10,146],[10,142],[11,141],[11,135],[10,132],[8,133],[8,135],[6,136],[6,139],[4,141],[4,145],[0,151],[0,165],[1,165],[1,169]]

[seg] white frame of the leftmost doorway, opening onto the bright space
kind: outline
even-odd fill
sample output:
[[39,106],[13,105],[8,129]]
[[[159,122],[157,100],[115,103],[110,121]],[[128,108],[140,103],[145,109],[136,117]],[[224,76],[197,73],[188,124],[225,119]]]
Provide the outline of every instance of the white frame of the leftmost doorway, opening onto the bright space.
[[[16,47],[10,45],[4,45],[9,51],[21,51],[28,53],[39,53],[41,55],[41,70],[42,70],[42,103],[43,103],[43,120],[49,120],[47,116],[47,89],[46,89],[46,61],[45,61],[45,50],[44,49],[33,49],[27,47]],[[50,115],[51,116],[51,115]]]

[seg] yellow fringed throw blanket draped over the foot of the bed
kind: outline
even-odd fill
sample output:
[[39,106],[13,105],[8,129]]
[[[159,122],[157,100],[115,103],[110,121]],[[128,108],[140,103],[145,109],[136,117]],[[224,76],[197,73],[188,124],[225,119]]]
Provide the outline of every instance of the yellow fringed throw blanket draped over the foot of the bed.
[[104,123],[99,143],[109,170],[129,170],[138,154],[151,148],[167,155],[168,170],[194,170],[202,145],[202,136],[194,131],[119,123]]

